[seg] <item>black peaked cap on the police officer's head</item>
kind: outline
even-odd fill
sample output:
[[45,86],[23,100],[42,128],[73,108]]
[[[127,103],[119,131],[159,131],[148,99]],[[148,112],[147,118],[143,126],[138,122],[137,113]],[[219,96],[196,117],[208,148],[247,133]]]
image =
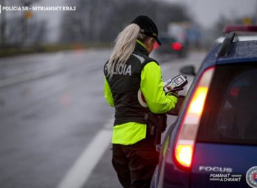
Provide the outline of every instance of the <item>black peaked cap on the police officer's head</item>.
[[153,20],[151,20],[150,17],[146,15],[140,15],[136,17],[131,22],[131,24],[137,24],[138,26],[140,26],[140,33],[151,36],[157,41],[158,45],[162,45],[162,43],[158,39],[158,29],[156,27],[156,24],[154,24]]

